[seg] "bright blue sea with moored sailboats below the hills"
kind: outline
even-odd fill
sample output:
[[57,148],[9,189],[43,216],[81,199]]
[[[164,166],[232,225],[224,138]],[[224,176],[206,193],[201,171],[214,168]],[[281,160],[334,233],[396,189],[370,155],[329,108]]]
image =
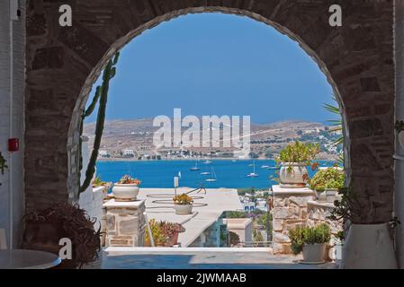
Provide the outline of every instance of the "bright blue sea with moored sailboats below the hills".
[[[256,160],[256,178],[248,178],[247,174],[253,172],[250,166],[253,161],[248,160],[210,160],[210,164],[198,161],[200,170],[190,170],[195,161],[98,161],[97,175],[103,181],[116,182],[124,174],[130,174],[141,180],[141,187],[173,187],[174,177],[181,173],[180,187],[204,187],[207,188],[269,188],[276,184],[271,177],[276,178],[276,170],[262,168],[262,166],[274,167],[273,160]],[[332,166],[333,161],[320,161],[321,166]],[[201,175],[202,172],[216,173],[215,182],[207,182],[210,175]],[[309,169],[310,170],[310,169]],[[310,175],[312,172],[310,171]]]

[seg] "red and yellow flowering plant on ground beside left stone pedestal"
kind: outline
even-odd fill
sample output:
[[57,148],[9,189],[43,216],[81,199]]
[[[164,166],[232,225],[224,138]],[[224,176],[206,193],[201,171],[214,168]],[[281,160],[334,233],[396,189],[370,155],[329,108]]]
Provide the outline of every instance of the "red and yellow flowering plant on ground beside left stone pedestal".
[[[155,219],[148,221],[151,236],[157,247],[173,247],[178,244],[178,233],[184,231],[181,224],[173,222],[157,222]],[[151,242],[148,232],[145,236],[145,246],[150,247]]]

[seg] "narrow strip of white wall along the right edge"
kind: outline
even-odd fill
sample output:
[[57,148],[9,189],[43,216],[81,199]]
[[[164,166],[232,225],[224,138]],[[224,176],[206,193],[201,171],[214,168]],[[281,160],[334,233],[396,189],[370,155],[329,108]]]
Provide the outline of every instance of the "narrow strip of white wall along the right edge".
[[[396,118],[404,120],[404,1],[396,0]],[[404,157],[400,143],[396,143],[396,154]],[[400,268],[404,268],[404,161],[395,161],[395,216],[401,222],[396,230],[396,250]]]

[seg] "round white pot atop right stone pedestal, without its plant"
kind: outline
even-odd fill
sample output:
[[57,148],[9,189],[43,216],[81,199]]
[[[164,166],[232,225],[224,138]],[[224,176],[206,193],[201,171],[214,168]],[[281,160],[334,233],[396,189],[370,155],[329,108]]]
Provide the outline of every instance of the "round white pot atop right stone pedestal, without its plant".
[[[289,170],[292,167],[292,170]],[[303,179],[308,174],[305,163],[283,162],[279,171],[281,187],[283,188],[301,188],[306,187],[306,180]]]

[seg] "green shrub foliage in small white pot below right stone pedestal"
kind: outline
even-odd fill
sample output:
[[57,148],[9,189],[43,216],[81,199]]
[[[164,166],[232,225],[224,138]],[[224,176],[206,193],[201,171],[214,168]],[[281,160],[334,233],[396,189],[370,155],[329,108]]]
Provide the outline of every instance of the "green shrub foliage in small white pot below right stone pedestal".
[[289,231],[294,255],[301,253],[305,244],[328,243],[331,239],[331,230],[325,223],[316,227],[301,227]]

